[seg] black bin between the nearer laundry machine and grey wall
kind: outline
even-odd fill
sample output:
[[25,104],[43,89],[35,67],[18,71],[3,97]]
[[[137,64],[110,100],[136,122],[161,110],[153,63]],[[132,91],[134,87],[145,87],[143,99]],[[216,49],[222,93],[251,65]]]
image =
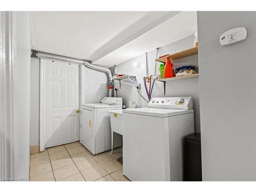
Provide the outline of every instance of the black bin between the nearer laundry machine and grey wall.
[[201,134],[185,136],[184,181],[202,181]]

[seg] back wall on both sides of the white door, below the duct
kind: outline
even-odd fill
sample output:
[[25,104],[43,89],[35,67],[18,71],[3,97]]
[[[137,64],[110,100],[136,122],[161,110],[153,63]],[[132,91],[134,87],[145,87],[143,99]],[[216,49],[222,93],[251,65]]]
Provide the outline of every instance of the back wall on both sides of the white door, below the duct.
[[[108,75],[84,66],[82,69],[81,102],[100,102],[108,96]],[[39,144],[40,65],[38,58],[31,58],[30,146]]]

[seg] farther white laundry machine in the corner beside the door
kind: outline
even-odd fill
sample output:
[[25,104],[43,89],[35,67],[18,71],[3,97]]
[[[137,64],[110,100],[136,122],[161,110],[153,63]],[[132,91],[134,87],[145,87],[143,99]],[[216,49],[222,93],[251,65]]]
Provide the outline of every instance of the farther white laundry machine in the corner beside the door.
[[[92,154],[111,150],[110,110],[122,109],[121,97],[104,97],[101,103],[81,104],[80,142]],[[114,147],[122,145],[122,136],[115,135]]]

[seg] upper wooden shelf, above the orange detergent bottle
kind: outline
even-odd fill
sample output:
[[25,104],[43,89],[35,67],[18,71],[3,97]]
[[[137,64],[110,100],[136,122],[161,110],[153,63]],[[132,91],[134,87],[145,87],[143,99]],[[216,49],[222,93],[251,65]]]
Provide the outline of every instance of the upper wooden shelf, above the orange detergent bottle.
[[196,54],[198,54],[198,46],[180,51],[178,53],[173,53],[173,54],[166,55],[164,57],[156,59],[156,61],[165,63],[167,57],[169,57],[170,60],[173,61],[173,60],[176,60],[176,59],[180,59],[180,58],[183,58],[183,57],[187,57],[187,56],[190,56],[190,55],[196,55]]

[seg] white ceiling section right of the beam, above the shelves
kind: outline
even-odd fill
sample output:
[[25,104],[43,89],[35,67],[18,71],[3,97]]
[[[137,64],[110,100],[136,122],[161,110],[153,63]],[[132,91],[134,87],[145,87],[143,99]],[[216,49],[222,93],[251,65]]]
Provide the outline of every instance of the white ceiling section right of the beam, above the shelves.
[[95,61],[112,67],[134,57],[195,34],[197,12],[181,12],[126,45]]

